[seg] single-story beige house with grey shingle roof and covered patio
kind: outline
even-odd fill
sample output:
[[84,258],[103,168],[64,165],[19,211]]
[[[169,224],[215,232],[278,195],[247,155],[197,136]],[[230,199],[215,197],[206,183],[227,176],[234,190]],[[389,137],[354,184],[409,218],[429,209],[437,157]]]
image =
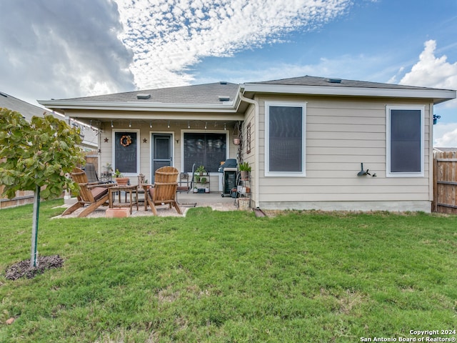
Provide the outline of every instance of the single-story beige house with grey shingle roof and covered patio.
[[109,163],[133,183],[139,173],[154,181],[160,166],[191,172],[196,163],[220,192],[221,161],[238,159],[252,169],[251,207],[430,212],[433,105],[454,98],[448,89],[302,76],[39,103],[99,128],[99,172]]

